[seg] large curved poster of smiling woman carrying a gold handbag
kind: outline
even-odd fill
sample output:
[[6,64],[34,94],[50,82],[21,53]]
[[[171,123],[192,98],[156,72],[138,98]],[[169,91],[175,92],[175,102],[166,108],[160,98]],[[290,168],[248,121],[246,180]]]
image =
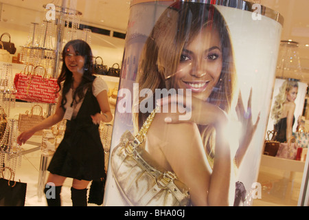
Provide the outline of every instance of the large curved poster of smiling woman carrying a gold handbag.
[[282,23],[261,5],[199,2],[131,5],[104,206],[257,198]]

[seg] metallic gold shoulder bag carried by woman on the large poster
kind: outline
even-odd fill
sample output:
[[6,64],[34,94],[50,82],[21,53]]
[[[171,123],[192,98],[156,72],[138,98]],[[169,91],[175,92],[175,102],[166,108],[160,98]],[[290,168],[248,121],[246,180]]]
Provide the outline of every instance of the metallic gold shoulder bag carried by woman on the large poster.
[[189,190],[176,175],[151,159],[141,144],[157,109],[136,137],[126,131],[111,153],[111,170],[119,191],[130,206],[190,206]]

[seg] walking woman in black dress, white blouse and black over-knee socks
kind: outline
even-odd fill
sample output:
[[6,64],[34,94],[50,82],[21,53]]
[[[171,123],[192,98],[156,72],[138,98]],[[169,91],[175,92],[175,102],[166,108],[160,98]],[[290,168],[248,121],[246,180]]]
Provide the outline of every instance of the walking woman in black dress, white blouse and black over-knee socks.
[[54,115],[17,137],[24,144],[36,131],[67,120],[64,138],[47,170],[45,194],[55,187],[56,198],[47,196],[48,206],[61,206],[60,191],[67,177],[72,178],[73,206],[87,206],[87,186],[91,180],[105,178],[104,149],[98,127],[113,115],[108,103],[108,87],[93,76],[93,54],[81,40],[69,41],[62,52],[63,65],[58,85],[60,96]]

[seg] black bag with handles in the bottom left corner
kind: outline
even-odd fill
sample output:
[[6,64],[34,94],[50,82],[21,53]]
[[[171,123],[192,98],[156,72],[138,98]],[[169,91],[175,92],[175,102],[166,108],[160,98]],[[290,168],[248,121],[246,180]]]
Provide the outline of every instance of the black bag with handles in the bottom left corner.
[[[10,178],[4,179],[4,170],[10,170]],[[27,183],[14,181],[15,174],[11,168],[5,167],[0,178],[0,206],[25,206]]]

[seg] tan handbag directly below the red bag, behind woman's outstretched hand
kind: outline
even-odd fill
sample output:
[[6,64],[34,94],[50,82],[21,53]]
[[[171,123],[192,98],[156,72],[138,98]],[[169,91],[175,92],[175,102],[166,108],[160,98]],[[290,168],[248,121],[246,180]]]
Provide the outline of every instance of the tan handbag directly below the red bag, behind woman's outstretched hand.
[[[34,115],[33,110],[35,107],[40,108],[40,113],[38,115]],[[45,120],[45,116],[43,115],[43,108],[39,104],[35,104],[30,112],[26,111],[25,113],[19,113],[19,124],[18,130],[19,132],[27,131],[32,126],[42,122]],[[43,135],[43,131],[37,131],[34,135]]]

